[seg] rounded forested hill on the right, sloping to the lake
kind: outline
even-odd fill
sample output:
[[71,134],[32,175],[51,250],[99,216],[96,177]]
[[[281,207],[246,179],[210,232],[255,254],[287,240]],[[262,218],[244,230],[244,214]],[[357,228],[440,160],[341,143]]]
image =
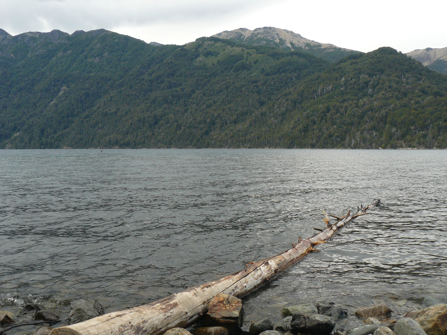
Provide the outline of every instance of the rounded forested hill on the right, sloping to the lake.
[[447,147],[447,76],[392,48],[350,56],[284,93],[298,147]]

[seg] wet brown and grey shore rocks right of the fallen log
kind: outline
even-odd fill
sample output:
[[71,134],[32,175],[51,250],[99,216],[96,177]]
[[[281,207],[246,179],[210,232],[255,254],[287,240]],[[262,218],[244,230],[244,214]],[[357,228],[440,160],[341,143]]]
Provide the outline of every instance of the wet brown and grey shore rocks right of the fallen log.
[[[355,312],[364,325],[344,330],[348,311],[334,303],[313,303],[284,307],[283,319],[272,322],[262,318],[250,324],[248,331],[240,329],[243,316],[242,303],[236,297],[219,295],[211,303],[211,315],[192,331],[192,335],[447,335],[447,305],[430,306],[424,310],[408,312],[404,317],[392,317],[385,303],[362,308]],[[228,312],[228,313],[227,313]],[[229,319],[232,321],[229,321]],[[232,325],[229,327],[229,325]],[[236,326],[236,327],[235,327]],[[191,335],[183,328],[173,328],[164,335]]]

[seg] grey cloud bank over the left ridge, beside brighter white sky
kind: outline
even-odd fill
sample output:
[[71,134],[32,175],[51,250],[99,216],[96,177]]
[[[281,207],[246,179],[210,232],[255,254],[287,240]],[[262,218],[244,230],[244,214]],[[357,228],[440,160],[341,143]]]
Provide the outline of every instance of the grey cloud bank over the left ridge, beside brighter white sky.
[[0,0],[0,28],[10,34],[52,29],[71,33],[120,25],[181,21],[194,24],[194,21],[222,19],[269,3],[267,0]]

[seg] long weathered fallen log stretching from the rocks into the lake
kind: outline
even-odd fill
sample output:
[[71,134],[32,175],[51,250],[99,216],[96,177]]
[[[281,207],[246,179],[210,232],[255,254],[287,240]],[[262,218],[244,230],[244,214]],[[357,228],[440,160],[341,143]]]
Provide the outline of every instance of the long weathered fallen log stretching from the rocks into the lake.
[[[374,199],[371,205],[358,208],[357,214],[367,214],[380,203]],[[66,327],[55,328],[50,335],[161,335],[174,327],[188,327],[207,313],[208,304],[218,293],[243,297],[271,281],[287,268],[303,259],[313,247],[325,243],[358,215],[336,217],[331,224],[325,213],[326,228],[308,239],[299,237],[298,243],[279,255],[249,262],[245,269],[215,281],[191,287],[151,304],[119,312],[107,313],[97,318]]]

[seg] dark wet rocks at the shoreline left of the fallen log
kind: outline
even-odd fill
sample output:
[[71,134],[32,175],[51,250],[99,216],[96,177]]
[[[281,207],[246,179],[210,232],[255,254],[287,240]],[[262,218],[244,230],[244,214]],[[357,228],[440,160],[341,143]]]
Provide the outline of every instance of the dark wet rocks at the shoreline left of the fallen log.
[[[102,314],[104,314],[104,308],[99,302],[93,299],[79,299],[71,302],[70,314],[65,314],[65,316],[56,308],[27,303],[21,306],[21,313],[17,316],[12,312],[0,310],[0,325],[2,327],[10,327],[20,325],[21,323],[42,321],[50,324],[58,323],[59,326],[63,326],[96,318]],[[40,327],[32,334],[46,335],[50,333],[51,329],[49,326]]]

